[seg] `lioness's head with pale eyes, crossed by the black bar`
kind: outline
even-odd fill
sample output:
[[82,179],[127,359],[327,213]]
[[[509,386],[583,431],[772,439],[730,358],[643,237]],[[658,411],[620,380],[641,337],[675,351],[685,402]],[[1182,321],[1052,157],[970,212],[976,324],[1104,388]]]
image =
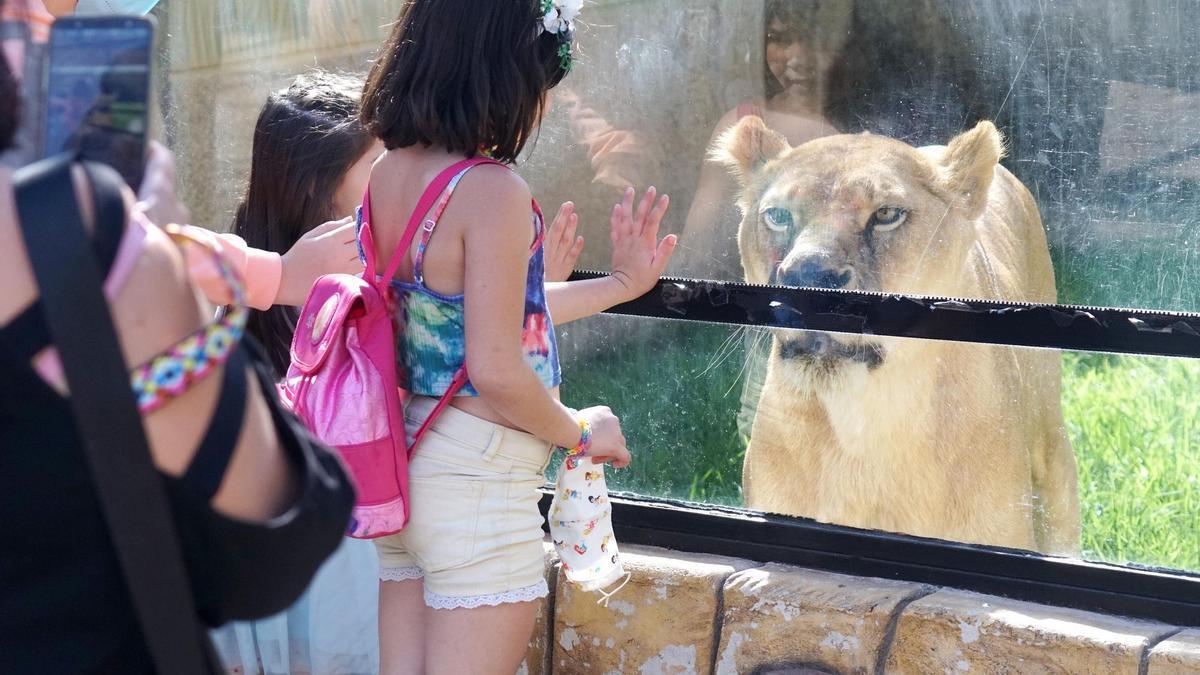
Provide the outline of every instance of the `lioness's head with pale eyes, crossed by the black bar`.
[[[738,247],[746,281],[817,288],[955,294],[971,221],[986,204],[1002,142],[990,123],[947,148],[918,150],[874,135],[791,148],[743,119],[713,156],[739,178]],[[859,336],[776,331],[785,360],[832,372],[883,363]]]

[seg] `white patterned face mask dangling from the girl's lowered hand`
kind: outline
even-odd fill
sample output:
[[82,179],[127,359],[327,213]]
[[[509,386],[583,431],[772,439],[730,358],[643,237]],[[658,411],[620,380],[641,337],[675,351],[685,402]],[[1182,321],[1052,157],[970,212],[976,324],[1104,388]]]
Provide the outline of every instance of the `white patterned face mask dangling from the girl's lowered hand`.
[[563,462],[550,507],[550,536],[566,578],[584,591],[600,591],[601,602],[607,603],[620,586],[608,593],[604,589],[622,577],[629,580],[612,536],[612,503],[602,464],[588,458]]

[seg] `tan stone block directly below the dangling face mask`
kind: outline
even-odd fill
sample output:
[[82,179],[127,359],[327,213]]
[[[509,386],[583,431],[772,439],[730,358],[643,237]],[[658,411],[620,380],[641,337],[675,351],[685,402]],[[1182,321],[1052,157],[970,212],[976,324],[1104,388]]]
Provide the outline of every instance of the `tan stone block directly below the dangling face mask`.
[[608,602],[563,575],[554,597],[556,675],[708,673],[721,587],[752,563],[623,546],[629,583]]

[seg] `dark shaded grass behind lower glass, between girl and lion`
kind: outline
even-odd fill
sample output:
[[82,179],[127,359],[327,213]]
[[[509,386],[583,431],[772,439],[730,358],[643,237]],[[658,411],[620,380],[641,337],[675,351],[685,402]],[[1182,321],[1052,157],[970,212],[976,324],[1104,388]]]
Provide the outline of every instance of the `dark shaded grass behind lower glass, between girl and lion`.
[[[620,350],[604,344],[605,335],[630,331],[640,339]],[[610,489],[740,506],[740,338],[725,327],[604,316],[571,333],[596,344],[564,350],[563,400],[612,407],[635,455],[629,468],[610,473]]]

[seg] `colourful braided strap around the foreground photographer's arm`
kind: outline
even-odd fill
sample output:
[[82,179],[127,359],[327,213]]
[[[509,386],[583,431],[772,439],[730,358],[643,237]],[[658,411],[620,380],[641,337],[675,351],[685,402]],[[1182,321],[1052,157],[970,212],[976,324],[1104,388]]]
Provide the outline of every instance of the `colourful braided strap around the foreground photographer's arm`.
[[151,413],[182,395],[229,360],[229,356],[241,341],[250,315],[241,279],[216,249],[186,234],[178,226],[168,225],[163,229],[176,244],[202,246],[211,253],[212,263],[229,285],[233,303],[220,319],[192,333],[133,370],[131,376],[133,395],[143,414]]

